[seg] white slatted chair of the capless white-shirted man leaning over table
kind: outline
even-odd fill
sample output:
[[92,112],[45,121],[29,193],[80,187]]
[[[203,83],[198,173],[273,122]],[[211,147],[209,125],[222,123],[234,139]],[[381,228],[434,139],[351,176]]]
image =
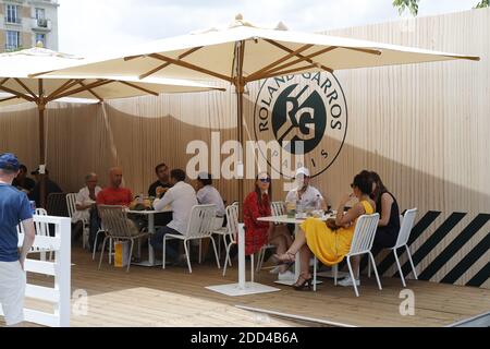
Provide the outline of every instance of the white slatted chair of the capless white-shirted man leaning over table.
[[[167,233],[163,236],[163,266],[166,268],[166,246],[167,240],[182,240],[184,243],[185,256],[187,258],[188,273],[193,273],[191,267],[189,242],[192,240],[211,239],[212,248],[215,249],[216,264],[220,268],[220,261],[218,260],[218,251],[216,249],[215,239],[211,234],[212,220],[216,217],[216,205],[195,205],[191,210],[189,220],[187,224],[186,234]],[[201,257],[199,244],[199,263]]]

